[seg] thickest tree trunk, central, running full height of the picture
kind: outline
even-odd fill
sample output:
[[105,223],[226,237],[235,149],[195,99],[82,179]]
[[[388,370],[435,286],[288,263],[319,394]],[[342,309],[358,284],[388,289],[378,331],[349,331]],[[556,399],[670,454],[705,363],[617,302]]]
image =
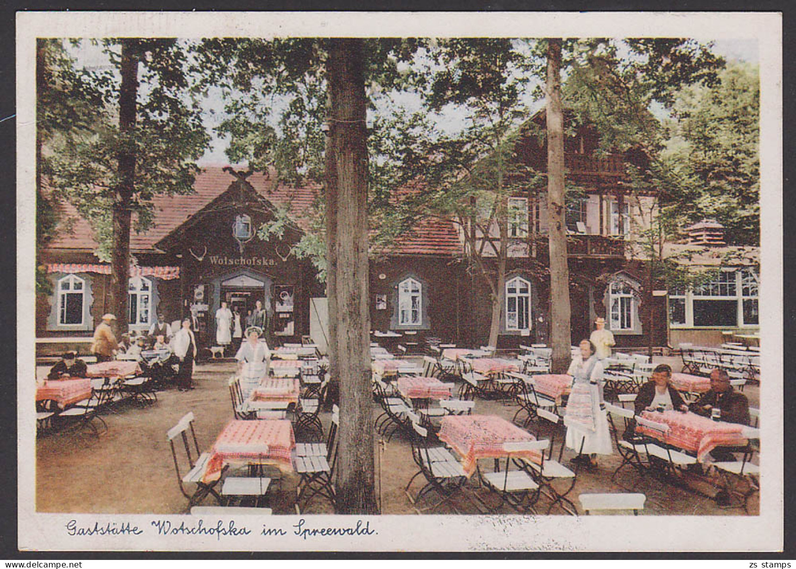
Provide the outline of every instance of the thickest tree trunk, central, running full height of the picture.
[[[364,42],[330,40],[331,146],[337,177],[335,231],[340,430],[337,511],[377,513],[369,355],[368,149]],[[334,350],[333,350],[334,351]]]

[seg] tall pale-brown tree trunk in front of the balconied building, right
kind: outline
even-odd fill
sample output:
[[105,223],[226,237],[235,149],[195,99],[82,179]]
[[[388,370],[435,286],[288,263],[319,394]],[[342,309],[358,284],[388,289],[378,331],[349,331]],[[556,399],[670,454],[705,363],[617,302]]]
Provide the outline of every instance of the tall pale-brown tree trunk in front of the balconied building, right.
[[561,40],[548,40],[548,246],[550,250],[550,343],[552,373],[567,370],[572,332],[567,232],[564,225],[564,112],[561,108]]

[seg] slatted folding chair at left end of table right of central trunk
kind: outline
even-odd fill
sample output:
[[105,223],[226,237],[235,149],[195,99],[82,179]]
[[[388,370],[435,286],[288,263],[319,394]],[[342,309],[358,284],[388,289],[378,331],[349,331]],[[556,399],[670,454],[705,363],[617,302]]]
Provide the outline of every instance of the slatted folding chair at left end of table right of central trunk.
[[[462,469],[462,465],[458,463],[447,449],[439,446],[433,448],[429,447],[427,441],[428,430],[419,425],[419,418],[417,415],[412,415],[410,415],[413,419],[410,421],[412,424],[412,459],[419,467],[419,472],[409,480],[408,485],[404,488],[404,493],[418,513],[434,511],[439,508],[439,506],[446,503],[451,506],[454,512],[460,513],[458,509],[449,502],[452,497],[462,490],[462,487],[467,481],[467,475],[464,469]],[[412,496],[409,492],[409,487],[412,486],[412,482],[415,481],[415,478],[420,474],[426,479],[426,485],[419,489],[415,496]],[[426,508],[418,508],[417,504],[430,492],[436,492],[441,499]]]

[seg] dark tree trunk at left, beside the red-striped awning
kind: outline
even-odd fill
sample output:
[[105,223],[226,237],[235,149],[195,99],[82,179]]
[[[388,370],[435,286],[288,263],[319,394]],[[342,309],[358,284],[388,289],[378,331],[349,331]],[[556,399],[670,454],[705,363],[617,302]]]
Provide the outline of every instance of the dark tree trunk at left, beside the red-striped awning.
[[119,185],[113,203],[113,252],[111,253],[111,312],[116,316],[119,334],[127,332],[127,287],[130,279],[130,217],[135,188],[135,130],[136,97],[139,89],[139,52],[133,39],[122,40],[122,84],[119,88],[119,131],[122,149],[119,151]]

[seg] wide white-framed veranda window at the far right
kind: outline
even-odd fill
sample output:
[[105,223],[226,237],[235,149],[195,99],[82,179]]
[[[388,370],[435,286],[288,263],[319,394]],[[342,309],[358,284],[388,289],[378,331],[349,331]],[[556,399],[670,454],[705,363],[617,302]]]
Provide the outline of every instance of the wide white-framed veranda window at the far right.
[[669,292],[669,324],[675,327],[740,328],[759,325],[758,276],[721,271],[704,285]]

